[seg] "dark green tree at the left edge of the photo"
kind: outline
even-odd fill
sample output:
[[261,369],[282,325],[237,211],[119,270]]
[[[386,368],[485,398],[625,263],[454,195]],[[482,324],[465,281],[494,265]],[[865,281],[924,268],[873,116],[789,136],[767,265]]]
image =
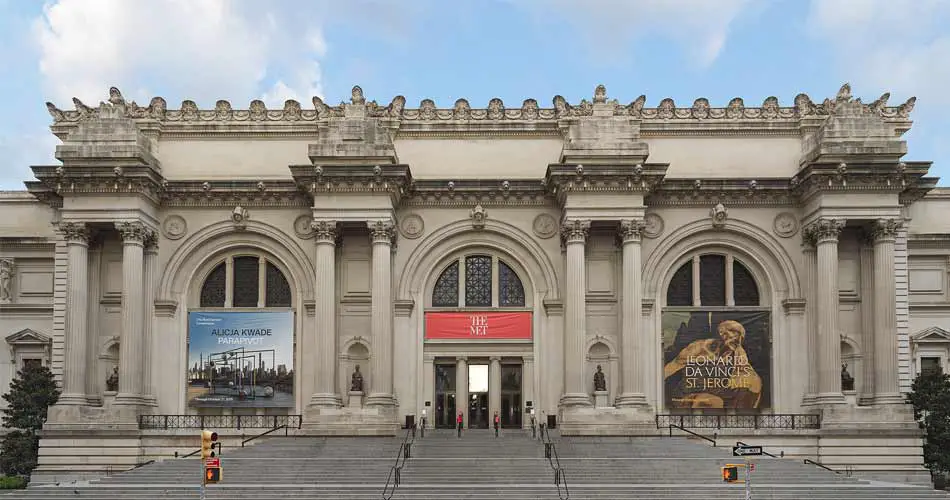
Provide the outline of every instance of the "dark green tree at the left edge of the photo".
[[49,407],[59,400],[59,389],[49,368],[28,365],[17,373],[3,400],[7,402],[3,425],[12,430],[0,443],[0,470],[8,475],[27,475],[36,468],[37,431],[43,428]]

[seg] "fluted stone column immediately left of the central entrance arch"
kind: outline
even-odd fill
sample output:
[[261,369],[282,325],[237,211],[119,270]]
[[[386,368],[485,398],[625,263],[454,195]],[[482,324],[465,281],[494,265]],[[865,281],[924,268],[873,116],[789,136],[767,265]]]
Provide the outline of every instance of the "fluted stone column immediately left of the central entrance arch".
[[396,236],[392,220],[370,221],[373,243],[372,392],[366,399],[369,406],[393,405],[393,301],[392,244]]

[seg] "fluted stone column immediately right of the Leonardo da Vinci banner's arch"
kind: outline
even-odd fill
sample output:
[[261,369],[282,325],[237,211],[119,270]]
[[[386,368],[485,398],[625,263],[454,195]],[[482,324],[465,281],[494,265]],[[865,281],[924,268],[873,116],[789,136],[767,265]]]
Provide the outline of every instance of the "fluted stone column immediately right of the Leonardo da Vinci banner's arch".
[[838,334],[838,236],[844,221],[819,219],[814,232],[817,254],[818,397],[820,404],[844,403],[841,393],[841,339]]

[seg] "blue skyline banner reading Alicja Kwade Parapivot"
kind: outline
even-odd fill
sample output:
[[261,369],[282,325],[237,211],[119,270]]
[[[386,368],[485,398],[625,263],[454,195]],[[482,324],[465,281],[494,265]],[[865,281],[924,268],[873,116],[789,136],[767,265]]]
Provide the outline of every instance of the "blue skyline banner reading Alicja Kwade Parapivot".
[[294,406],[294,313],[189,312],[188,405]]

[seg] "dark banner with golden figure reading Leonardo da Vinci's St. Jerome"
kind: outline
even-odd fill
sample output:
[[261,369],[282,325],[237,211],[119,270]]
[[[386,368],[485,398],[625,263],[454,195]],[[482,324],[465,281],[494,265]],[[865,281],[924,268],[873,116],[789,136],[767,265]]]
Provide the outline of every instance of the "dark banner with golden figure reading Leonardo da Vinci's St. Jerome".
[[664,311],[662,327],[667,408],[770,407],[768,312]]

